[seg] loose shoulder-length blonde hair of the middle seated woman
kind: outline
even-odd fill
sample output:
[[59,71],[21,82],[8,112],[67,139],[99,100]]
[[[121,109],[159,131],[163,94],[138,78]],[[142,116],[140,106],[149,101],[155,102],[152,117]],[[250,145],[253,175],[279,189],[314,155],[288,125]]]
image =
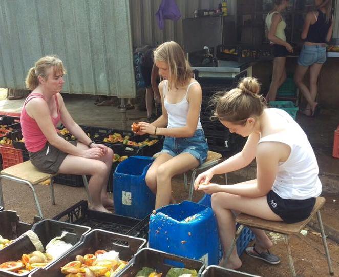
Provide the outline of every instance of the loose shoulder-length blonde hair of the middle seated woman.
[[168,88],[173,86],[179,88],[186,85],[193,73],[184,51],[176,42],[165,42],[154,50],[154,61],[161,61],[168,64]]

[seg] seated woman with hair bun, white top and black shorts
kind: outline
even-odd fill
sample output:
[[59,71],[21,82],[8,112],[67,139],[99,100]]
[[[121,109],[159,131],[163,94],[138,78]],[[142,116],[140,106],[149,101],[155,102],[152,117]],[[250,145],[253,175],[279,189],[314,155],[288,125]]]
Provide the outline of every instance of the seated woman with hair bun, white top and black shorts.
[[[201,173],[195,180],[196,189],[212,194],[211,204],[224,253],[236,232],[232,210],[294,223],[310,215],[315,197],[322,190],[318,165],[306,134],[284,110],[266,108],[259,90],[257,80],[248,77],[219,98],[215,116],[230,132],[248,139],[240,153]],[[215,174],[241,169],[254,159],[257,179],[234,185],[209,183]],[[252,231],[256,244],[246,252],[270,264],[279,263],[279,257],[268,252],[273,244],[265,232]],[[236,248],[227,263],[222,260],[221,265],[232,269],[241,266]]]

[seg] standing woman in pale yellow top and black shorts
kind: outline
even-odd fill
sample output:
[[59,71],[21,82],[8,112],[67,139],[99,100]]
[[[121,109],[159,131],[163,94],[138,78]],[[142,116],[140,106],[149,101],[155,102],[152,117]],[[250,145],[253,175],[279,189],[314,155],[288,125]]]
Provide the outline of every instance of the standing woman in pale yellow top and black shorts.
[[292,46],[286,41],[286,22],[281,16],[281,12],[288,6],[288,0],[273,0],[273,3],[274,8],[265,19],[266,34],[274,55],[272,81],[266,95],[267,102],[276,100],[277,91],[286,80],[286,56],[293,52]]

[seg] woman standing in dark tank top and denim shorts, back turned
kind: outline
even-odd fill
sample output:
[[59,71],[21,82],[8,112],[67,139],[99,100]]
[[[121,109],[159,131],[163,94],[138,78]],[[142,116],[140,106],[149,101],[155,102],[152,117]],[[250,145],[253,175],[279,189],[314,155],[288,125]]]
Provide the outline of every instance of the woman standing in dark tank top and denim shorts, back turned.
[[[313,116],[318,110],[315,102],[317,80],[320,70],[326,61],[326,43],[330,41],[333,32],[333,17],[331,15],[332,0],[315,0],[315,10],[307,13],[301,38],[305,40],[298,58],[294,73],[294,82],[304,95],[307,106],[303,113]],[[309,88],[303,83],[306,71],[309,69]]]

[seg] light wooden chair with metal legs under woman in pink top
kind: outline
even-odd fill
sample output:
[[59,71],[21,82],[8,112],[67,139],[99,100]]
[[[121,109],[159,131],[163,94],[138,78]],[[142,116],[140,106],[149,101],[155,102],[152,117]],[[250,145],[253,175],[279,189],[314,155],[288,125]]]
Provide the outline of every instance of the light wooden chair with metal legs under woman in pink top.
[[[40,204],[34,190],[34,185],[42,183],[46,180],[50,180],[49,184],[51,188],[51,199],[52,204],[55,205],[55,196],[54,196],[54,186],[53,186],[53,177],[56,174],[44,173],[37,170],[30,161],[26,161],[11,167],[8,167],[0,172],[0,206],[4,207],[4,199],[2,192],[2,179],[7,179],[15,181],[18,183],[26,184],[30,187],[33,192],[33,197],[35,201],[36,208],[38,210],[39,216],[43,218],[43,213],[41,212]],[[86,188],[86,193],[90,201],[90,195],[88,192],[88,182],[86,176],[82,176],[84,186]]]

